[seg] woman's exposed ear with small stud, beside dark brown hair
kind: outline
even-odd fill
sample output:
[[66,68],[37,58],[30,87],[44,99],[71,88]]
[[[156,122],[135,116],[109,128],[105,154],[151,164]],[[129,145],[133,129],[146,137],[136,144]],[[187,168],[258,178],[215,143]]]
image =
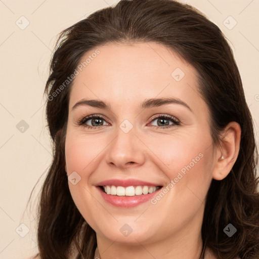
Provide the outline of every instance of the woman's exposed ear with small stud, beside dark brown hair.
[[222,180],[228,176],[237,160],[241,139],[240,125],[231,121],[221,134],[220,146],[217,147],[212,178]]

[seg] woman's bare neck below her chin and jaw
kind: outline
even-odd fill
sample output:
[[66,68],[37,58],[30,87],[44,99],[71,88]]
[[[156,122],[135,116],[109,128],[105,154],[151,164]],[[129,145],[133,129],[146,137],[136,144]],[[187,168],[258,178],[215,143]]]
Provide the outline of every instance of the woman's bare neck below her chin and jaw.
[[[157,233],[147,240],[140,233],[131,239],[115,236],[113,240],[97,233],[97,246],[100,259],[200,259],[202,251],[201,226],[203,219],[203,208],[190,221],[181,228],[179,226],[168,226],[168,232]],[[170,228],[174,228],[169,231]],[[161,238],[162,237],[162,238]],[[205,259],[215,259],[216,257],[208,250],[205,251]]]

